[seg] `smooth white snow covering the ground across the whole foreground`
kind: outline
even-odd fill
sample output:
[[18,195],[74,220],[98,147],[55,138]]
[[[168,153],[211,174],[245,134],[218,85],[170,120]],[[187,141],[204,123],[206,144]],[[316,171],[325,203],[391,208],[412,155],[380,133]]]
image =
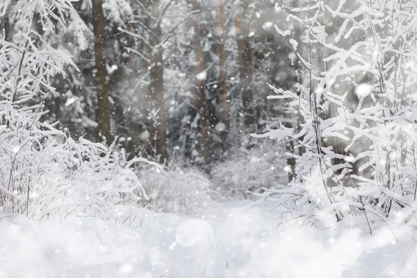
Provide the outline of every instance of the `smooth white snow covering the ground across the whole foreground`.
[[396,243],[389,229],[278,227],[270,204],[249,207],[188,217],[123,207],[120,222],[1,216],[0,278],[416,277],[412,233],[394,231]]

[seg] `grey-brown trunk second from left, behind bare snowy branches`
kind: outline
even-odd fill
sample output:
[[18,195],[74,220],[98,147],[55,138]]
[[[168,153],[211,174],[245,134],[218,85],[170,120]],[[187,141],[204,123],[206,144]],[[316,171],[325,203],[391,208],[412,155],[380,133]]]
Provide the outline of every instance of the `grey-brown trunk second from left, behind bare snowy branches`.
[[161,46],[161,24],[156,19],[159,18],[159,0],[150,0],[148,10],[152,17],[148,19],[149,44],[152,47],[150,63],[149,94],[152,101],[152,109],[156,113],[156,119],[151,126],[152,147],[154,154],[160,163],[165,163],[167,159],[167,140],[165,134],[165,105],[163,101],[163,59]]

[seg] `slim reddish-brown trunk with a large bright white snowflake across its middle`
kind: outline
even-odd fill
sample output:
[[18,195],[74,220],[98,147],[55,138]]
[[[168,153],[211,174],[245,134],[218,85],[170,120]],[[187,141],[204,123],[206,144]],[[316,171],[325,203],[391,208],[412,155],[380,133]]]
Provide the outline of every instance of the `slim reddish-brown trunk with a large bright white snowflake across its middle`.
[[[193,10],[198,10],[197,0],[191,0],[193,4]],[[207,115],[206,115],[206,93],[204,92],[204,83],[206,80],[206,73],[204,69],[204,58],[202,51],[201,38],[199,33],[199,15],[194,17],[194,32],[195,32],[195,57],[197,60],[197,88],[200,95],[200,124],[202,129],[202,144],[203,144],[203,157],[204,162],[208,163],[210,160],[208,152],[208,133],[207,133]]]

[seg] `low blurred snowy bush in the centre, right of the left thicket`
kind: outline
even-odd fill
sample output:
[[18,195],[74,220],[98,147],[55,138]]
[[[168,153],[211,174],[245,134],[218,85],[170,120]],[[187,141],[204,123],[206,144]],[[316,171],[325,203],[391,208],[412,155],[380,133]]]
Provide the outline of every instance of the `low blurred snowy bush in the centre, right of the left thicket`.
[[156,211],[193,213],[214,203],[211,182],[197,170],[154,167],[140,170],[138,177],[149,195],[139,203]]

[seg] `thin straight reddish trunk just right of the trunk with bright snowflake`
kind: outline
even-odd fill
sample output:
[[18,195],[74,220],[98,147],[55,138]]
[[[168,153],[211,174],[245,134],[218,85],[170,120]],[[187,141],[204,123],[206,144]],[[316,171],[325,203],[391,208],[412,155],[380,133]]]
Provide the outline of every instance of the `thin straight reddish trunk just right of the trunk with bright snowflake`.
[[224,15],[224,0],[220,0],[219,6],[219,27],[220,27],[220,44],[219,44],[219,61],[220,61],[220,121],[224,124],[224,131],[220,132],[220,138],[222,139],[223,152],[227,150],[227,133],[229,129],[229,122],[227,120],[227,86],[226,86],[226,51],[224,49],[224,33],[226,31],[226,17]]

